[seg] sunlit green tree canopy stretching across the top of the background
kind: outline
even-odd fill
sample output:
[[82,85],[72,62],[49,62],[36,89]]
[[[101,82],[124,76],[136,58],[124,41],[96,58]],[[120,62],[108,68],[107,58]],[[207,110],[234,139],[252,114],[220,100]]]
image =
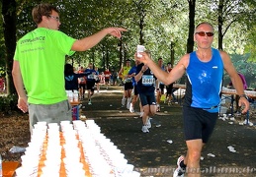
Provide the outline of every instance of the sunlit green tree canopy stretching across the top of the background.
[[[26,32],[35,29],[31,11],[40,0],[17,0],[18,1],[18,38]],[[231,2],[222,0],[225,4],[223,29],[227,33],[223,40],[223,48],[229,53],[243,53],[245,30],[242,19],[248,17],[254,7],[254,1],[236,0]],[[153,58],[163,57],[164,62],[170,60],[170,44],[175,43],[176,62],[186,52],[188,37],[188,2],[169,0],[51,0],[50,2],[60,9],[60,30],[74,38],[81,38],[106,27],[124,27],[128,32],[124,33],[123,42],[126,44],[127,58],[133,58],[135,47],[139,43],[139,19],[145,16],[143,22],[143,40],[147,49],[151,50]],[[202,21],[210,21],[217,25],[218,0],[209,0],[208,3],[198,0],[196,4],[196,24]],[[239,18],[238,18],[239,17]],[[233,23],[233,20],[236,23]],[[229,26],[232,24],[231,26]],[[243,32],[240,32],[243,31]],[[255,30],[254,30],[255,31]],[[217,38],[217,34],[215,35]],[[235,39],[235,40],[234,40]],[[74,64],[87,65],[94,61],[95,65],[102,68],[108,67],[106,56],[108,48],[108,60],[110,63],[119,64],[120,53],[118,43],[114,37],[107,37],[94,47],[94,50],[78,52],[72,59]],[[214,40],[217,48],[217,39]],[[251,50],[254,52],[253,50]],[[94,56],[95,58],[92,58]],[[176,63],[175,62],[175,63]]]

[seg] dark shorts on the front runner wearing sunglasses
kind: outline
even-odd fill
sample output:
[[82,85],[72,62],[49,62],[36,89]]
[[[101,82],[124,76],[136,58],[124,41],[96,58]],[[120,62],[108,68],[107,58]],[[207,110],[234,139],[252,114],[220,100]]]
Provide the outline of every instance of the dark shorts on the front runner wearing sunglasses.
[[213,133],[218,113],[201,108],[183,106],[183,123],[186,141],[202,139],[207,143]]

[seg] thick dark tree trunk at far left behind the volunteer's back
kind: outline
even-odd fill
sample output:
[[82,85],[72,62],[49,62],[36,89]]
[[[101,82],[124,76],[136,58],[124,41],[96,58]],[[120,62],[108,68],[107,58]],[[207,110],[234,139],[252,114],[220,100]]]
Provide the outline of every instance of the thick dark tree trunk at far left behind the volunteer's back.
[[2,1],[3,29],[6,46],[6,84],[7,94],[16,93],[12,78],[13,57],[16,47],[16,2],[15,0]]

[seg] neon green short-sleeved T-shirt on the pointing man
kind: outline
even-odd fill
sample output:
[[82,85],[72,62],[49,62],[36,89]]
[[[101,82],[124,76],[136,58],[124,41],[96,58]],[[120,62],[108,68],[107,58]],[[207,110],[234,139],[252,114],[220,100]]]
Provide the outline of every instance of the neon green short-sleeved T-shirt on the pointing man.
[[38,28],[17,43],[23,82],[32,104],[54,104],[67,99],[64,83],[65,56],[72,55],[76,39],[59,30]]

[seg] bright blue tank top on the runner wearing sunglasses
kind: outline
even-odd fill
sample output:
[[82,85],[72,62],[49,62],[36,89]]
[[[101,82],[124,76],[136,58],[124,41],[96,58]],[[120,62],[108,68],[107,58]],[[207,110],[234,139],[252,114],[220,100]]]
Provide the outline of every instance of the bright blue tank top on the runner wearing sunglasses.
[[218,112],[223,63],[219,51],[212,48],[212,52],[213,57],[209,62],[200,61],[196,51],[190,53],[190,62],[186,71],[185,106]]

